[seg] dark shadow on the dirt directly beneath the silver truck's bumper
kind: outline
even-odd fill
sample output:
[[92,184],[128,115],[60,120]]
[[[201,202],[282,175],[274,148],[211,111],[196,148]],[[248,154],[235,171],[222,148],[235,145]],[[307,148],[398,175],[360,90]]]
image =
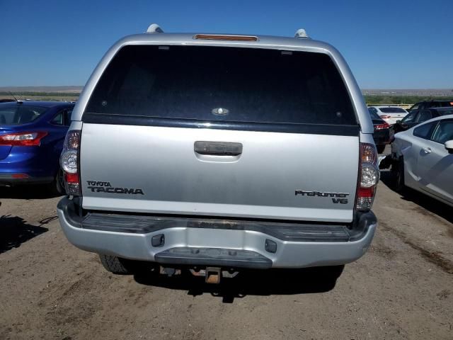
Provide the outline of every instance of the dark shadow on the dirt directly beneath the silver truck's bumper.
[[246,295],[296,295],[325,293],[335,288],[344,266],[301,269],[242,270],[235,278],[222,278],[218,285],[205,283],[205,278],[183,271],[179,276],[156,273],[134,275],[137,283],[161,288],[187,290],[188,295],[209,293],[222,297],[222,302],[233,303]]

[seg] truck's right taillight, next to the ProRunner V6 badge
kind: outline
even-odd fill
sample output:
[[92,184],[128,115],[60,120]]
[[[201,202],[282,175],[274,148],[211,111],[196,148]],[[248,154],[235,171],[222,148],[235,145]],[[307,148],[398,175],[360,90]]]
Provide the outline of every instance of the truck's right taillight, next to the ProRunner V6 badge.
[[355,197],[357,210],[364,211],[372,208],[379,174],[376,147],[372,144],[360,143],[359,181]]

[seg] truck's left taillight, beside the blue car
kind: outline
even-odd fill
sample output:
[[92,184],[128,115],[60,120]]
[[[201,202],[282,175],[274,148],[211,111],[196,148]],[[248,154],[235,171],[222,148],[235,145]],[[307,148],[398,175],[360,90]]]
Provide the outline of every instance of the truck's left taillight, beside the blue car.
[[64,186],[69,195],[81,195],[79,174],[80,130],[68,131],[59,165],[64,172]]

